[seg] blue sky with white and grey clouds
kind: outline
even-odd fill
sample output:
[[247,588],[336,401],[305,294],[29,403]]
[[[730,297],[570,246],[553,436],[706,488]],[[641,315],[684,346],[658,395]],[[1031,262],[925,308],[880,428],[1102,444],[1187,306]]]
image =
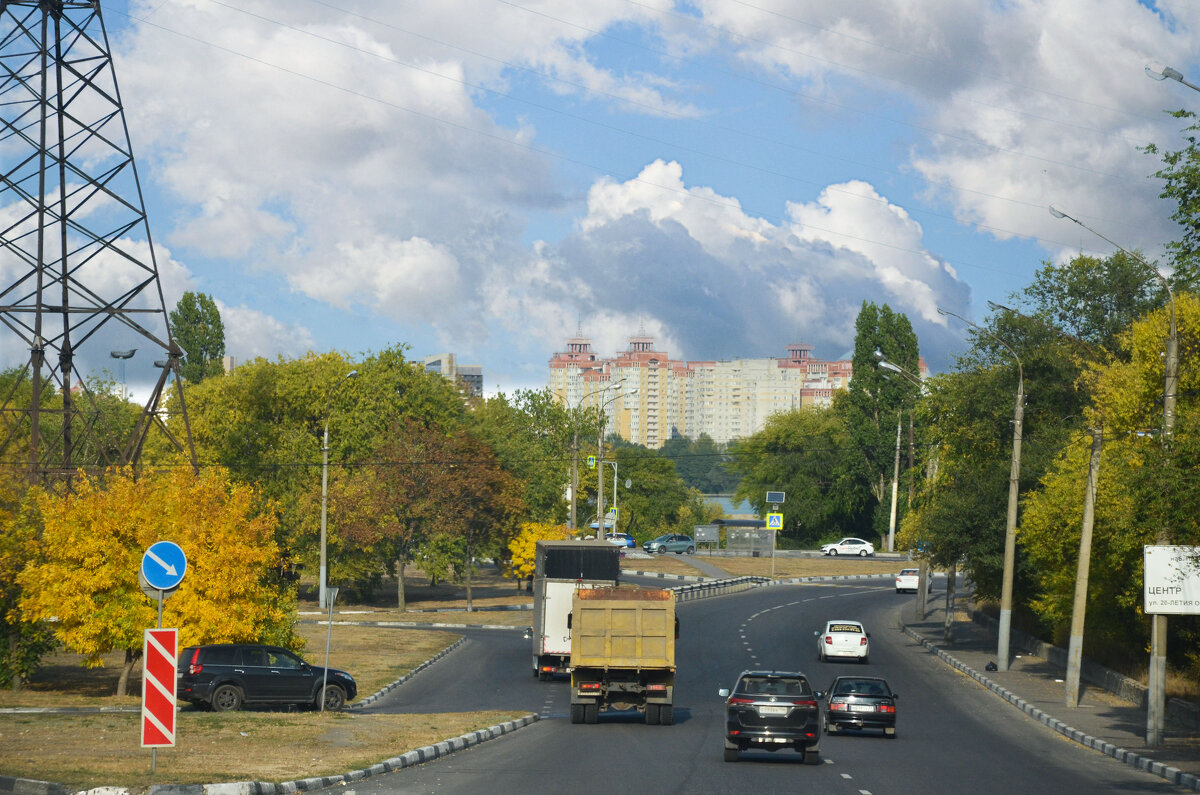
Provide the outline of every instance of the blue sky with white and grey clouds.
[[938,306],[980,321],[1112,250],[1051,203],[1162,255],[1175,205],[1140,148],[1181,148],[1166,110],[1200,107],[1145,70],[1200,82],[1188,0],[102,10],[168,307],[211,295],[239,361],[406,345],[488,394],[545,387],[577,333],[841,358],[864,300],[946,370],[965,327]]

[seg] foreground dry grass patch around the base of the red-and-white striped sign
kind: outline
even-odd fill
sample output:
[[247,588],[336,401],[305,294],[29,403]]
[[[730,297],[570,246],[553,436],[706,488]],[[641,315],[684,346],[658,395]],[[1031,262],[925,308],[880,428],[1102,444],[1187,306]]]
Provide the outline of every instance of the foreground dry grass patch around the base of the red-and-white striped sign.
[[174,748],[140,748],[137,713],[0,715],[4,775],[73,789],[145,791],[154,783],[282,782],[359,770],[484,729],[522,712],[349,715],[322,712],[179,713]]

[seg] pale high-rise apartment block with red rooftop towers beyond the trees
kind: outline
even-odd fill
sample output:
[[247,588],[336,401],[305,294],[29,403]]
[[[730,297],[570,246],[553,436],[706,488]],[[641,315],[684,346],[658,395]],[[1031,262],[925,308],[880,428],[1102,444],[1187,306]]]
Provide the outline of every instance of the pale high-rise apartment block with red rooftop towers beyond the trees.
[[774,413],[829,406],[852,377],[850,360],[814,359],[812,346],[802,342],[778,359],[683,361],[656,351],[646,334],[629,337],[612,358],[576,335],[550,359],[550,390],[559,401],[602,408],[608,429],[654,449],[672,437],[707,434],[725,443],[751,436]]

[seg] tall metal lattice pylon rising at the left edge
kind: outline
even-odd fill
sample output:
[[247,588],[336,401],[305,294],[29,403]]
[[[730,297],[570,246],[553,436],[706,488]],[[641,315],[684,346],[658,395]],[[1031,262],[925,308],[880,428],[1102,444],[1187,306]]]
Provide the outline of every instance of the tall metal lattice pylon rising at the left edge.
[[[5,365],[11,385],[0,381],[0,464],[42,480],[137,465],[157,428],[194,467],[182,351],[170,336],[98,0],[0,0],[0,285],[11,279],[0,323],[29,352],[23,367]],[[112,324],[166,354],[132,431],[101,411],[78,367],[80,358],[98,366],[108,331],[128,334]],[[16,340],[2,335],[0,351],[12,349]],[[168,402],[186,447],[162,417],[172,378]]]

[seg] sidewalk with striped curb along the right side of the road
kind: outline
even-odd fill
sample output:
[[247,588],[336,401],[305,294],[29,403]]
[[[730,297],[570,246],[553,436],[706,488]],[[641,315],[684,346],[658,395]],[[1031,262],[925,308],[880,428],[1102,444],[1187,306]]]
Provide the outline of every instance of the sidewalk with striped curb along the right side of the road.
[[899,612],[900,627],[949,665],[1058,734],[1184,789],[1200,791],[1200,735],[1194,730],[1168,721],[1163,747],[1147,748],[1145,707],[1084,682],[1079,706],[1068,709],[1062,668],[1030,654],[1014,641],[1012,652],[1019,656],[1009,663],[1009,669],[988,671],[988,663],[997,662],[995,630],[959,620],[947,644],[946,593],[938,590],[926,610],[918,621],[914,598]]

